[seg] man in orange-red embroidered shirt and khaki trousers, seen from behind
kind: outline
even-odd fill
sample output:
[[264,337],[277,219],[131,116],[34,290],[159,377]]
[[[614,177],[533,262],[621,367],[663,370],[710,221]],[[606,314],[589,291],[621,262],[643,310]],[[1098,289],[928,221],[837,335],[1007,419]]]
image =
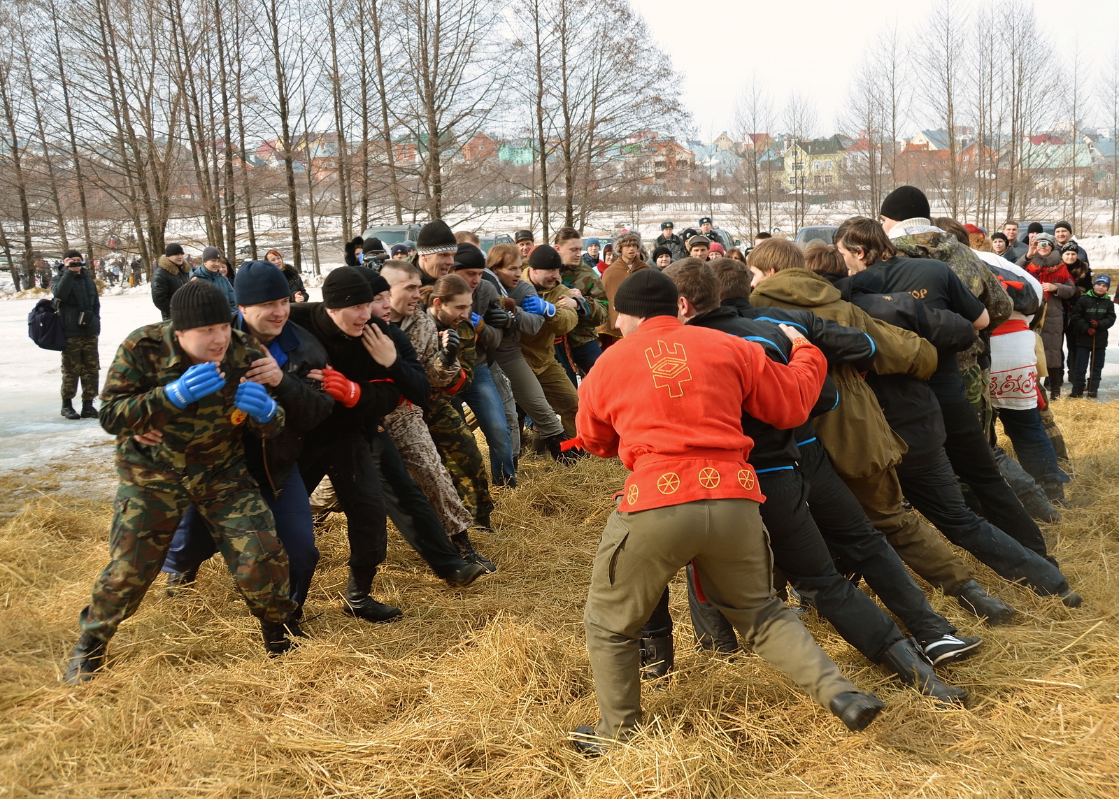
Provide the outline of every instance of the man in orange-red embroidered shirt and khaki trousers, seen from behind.
[[746,462],[753,442],[746,411],[774,427],[802,424],[827,361],[793,328],[788,366],[751,341],[685,327],[679,293],[659,272],[637,272],[618,288],[624,337],[603,352],[580,386],[582,445],[619,455],[631,470],[594,560],[584,624],[601,720],[579,727],[575,745],[600,754],[641,721],[639,643],[665,586],[686,563],[708,602],[746,646],[792,677],[850,730],[882,709],[859,693],[773,595],[771,558],[758,514],[763,501]]

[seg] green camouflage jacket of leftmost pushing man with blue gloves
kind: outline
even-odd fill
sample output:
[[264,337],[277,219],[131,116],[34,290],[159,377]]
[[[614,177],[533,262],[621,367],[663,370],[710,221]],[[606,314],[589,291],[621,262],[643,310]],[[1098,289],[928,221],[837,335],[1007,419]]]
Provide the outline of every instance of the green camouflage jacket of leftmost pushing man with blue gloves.
[[[219,365],[225,387],[180,411],[163,386],[179,379],[190,364],[179,348],[171,322],[133,330],[116,350],[105,375],[98,414],[101,426],[116,436],[116,471],[121,479],[139,485],[203,482],[238,469],[251,479],[242,432],[274,438],[283,430],[284,411],[278,407],[270,422],[258,424],[234,407],[233,397],[248,365],[265,355],[254,339],[234,330]],[[159,444],[147,446],[132,438],[153,430],[163,433]]]

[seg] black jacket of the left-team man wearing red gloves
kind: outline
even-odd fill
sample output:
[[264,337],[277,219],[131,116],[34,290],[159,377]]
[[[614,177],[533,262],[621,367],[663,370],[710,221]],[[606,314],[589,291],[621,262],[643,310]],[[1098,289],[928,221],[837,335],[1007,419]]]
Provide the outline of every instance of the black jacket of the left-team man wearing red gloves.
[[330,365],[361,388],[354,407],[336,402],[330,416],[314,427],[310,436],[350,439],[355,432],[373,433],[380,419],[401,403],[402,396],[414,405],[427,407],[431,384],[404,331],[379,319],[369,321],[396,345],[396,360],[386,369],[369,356],[360,338],[338,329],[321,302],[293,304],[291,320],[307,328],[327,350]]

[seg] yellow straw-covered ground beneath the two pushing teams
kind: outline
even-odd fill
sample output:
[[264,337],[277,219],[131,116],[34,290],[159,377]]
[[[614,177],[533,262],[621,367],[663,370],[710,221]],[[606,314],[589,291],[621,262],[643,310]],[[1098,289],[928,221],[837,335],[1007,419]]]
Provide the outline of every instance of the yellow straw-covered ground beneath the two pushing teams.
[[389,626],[339,612],[347,552],[332,517],[313,639],[282,659],[264,656],[219,562],[187,599],[160,581],[113,640],[107,673],[77,688],[59,675],[105,561],[110,497],[48,494],[0,532],[0,796],[1116,797],[1115,407],[1057,404],[1078,507],[1049,534],[1084,605],[980,568],[1021,611],[988,630],[932,594],[986,639],[949,670],[970,707],[934,709],[810,615],[845,671],[886,702],[865,733],[847,733],[759,658],[694,652],[677,590],[677,674],[646,692],[647,731],[595,761],[566,735],[596,717],[582,605],[618,463],[529,461],[521,487],[500,495],[497,533],[477,536],[500,572],[476,588],[448,590],[391,533],[378,596],[406,618]]

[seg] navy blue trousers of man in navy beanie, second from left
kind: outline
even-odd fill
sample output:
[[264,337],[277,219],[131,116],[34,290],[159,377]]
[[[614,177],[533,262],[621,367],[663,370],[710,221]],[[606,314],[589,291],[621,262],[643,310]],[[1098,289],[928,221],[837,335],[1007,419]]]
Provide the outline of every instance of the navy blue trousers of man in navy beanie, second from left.
[[[319,549],[314,546],[314,521],[311,519],[311,504],[307,500],[307,488],[299,473],[299,467],[291,470],[288,482],[279,500],[270,499],[262,491],[264,501],[276,520],[276,537],[288,553],[291,598],[300,607],[307,601],[311,589],[311,577],[319,563]],[[191,505],[179,521],[171,539],[171,548],[163,561],[164,572],[191,572],[197,570],[214,553],[217,544],[206,527],[206,521]],[[299,613],[299,611],[297,611]]]

